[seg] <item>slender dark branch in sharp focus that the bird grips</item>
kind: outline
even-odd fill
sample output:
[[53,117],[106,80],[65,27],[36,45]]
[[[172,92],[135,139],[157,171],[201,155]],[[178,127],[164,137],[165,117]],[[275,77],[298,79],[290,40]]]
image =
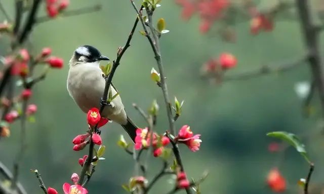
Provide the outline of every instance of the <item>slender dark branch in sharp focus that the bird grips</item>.
[[[141,9],[143,9],[143,7],[141,7]],[[101,106],[100,106],[100,113],[102,113],[102,111],[104,110],[105,106],[109,105],[107,104],[107,98],[108,98],[108,92],[109,92],[109,88],[110,88],[110,85],[111,85],[111,82],[112,82],[112,77],[119,65],[119,62],[121,60],[121,57],[124,55],[125,51],[131,46],[130,43],[131,43],[131,40],[132,40],[132,37],[133,37],[133,34],[134,34],[134,31],[136,29],[136,26],[137,26],[137,23],[138,23],[138,17],[136,17],[136,20],[134,22],[134,25],[133,25],[133,28],[128,36],[128,39],[126,41],[126,44],[123,48],[120,48],[118,49],[118,52],[117,52],[117,58],[115,61],[113,61],[113,64],[112,64],[112,68],[111,68],[111,71],[108,75],[108,77],[105,77],[105,81],[106,81],[106,84],[105,84],[105,89],[104,89],[104,92],[103,92],[103,95],[102,95],[102,98],[101,98]],[[97,126],[95,127],[97,128]],[[82,171],[80,173],[80,177],[79,177],[79,181],[78,181],[78,184],[82,185],[83,182],[84,182],[84,179],[85,179],[85,175],[87,173],[88,170],[90,170],[90,165],[91,165],[91,162],[92,162],[92,158],[93,158],[93,149],[94,149],[94,143],[92,141],[92,135],[90,136],[90,145],[89,145],[89,154],[88,154],[88,158],[82,168]],[[91,175],[91,173],[90,173]],[[88,177],[88,179],[90,179],[90,177]]]

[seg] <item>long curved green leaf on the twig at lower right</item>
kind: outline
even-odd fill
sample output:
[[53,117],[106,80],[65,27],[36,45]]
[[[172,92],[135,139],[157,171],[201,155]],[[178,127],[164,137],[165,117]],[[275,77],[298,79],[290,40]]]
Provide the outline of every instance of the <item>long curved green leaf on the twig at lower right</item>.
[[282,139],[296,148],[296,150],[305,158],[305,160],[310,163],[310,160],[307,157],[307,152],[305,150],[305,145],[301,143],[298,137],[293,133],[288,133],[286,131],[274,131],[267,133],[269,137],[275,137]]

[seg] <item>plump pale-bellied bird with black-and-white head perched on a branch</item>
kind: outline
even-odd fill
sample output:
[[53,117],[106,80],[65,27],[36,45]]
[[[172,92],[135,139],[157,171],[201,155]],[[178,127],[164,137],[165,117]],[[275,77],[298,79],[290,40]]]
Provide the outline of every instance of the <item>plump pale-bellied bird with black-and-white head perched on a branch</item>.
[[[93,46],[79,46],[69,60],[67,75],[67,91],[79,108],[87,113],[91,108],[100,108],[105,79],[100,69],[100,61],[108,61]],[[117,94],[115,86],[111,83],[109,91],[112,96]],[[124,104],[118,94],[101,113],[101,117],[120,124],[135,142],[137,126],[126,114]]]

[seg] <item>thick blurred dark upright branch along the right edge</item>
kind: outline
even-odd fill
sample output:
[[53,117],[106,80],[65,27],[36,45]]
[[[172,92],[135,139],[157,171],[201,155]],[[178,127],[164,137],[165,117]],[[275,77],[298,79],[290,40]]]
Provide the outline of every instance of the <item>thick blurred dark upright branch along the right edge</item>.
[[[311,20],[310,8],[307,0],[296,0],[297,10],[301,21],[305,44],[309,52],[308,62],[318,88],[322,111],[324,111],[324,76],[322,61],[318,47],[318,29]],[[324,115],[324,112],[322,112]]]

